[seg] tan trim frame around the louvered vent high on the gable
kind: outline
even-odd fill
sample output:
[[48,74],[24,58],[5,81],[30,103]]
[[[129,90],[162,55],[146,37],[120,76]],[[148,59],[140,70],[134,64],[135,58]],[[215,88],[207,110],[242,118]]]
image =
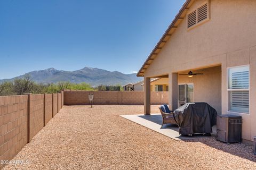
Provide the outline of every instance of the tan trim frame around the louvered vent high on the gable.
[[[198,22],[198,8],[201,8],[202,6],[204,6],[205,4],[207,4],[207,18]],[[196,24],[192,25],[191,27],[188,27],[188,15],[195,12],[196,11]],[[201,5],[198,5],[194,10],[191,10],[189,11],[187,14],[186,14],[186,17],[187,17],[187,31],[207,22],[210,20],[210,1],[206,1],[204,3],[202,3]]]

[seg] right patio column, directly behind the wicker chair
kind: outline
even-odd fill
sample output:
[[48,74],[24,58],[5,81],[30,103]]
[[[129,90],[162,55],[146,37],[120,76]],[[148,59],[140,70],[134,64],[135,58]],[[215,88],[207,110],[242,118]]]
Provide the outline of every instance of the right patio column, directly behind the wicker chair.
[[169,108],[174,111],[178,108],[178,74],[169,74]]

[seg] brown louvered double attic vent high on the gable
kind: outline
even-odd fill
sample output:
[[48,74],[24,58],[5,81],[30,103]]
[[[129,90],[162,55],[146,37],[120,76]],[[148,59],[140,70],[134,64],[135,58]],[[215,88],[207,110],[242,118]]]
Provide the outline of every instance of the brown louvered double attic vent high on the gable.
[[209,19],[209,3],[206,3],[187,15],[188,28]]

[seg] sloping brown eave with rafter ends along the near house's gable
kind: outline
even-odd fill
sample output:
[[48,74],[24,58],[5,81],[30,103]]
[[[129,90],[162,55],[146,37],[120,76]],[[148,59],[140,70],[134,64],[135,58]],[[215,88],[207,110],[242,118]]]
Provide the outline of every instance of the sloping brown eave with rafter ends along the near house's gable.
[[169,38],[172,36],[171,33],[173,33],[175,31],[175,29],[177,29],[177,26],[179,24],[178,21],[182,21],[183,18],[181,18],[181,15],[183,14],[184,11],[188,10],[188,5],[194,2],[194,0],[187,0],[183,6],[181,7],[179,13],[175,16],[174,20],[172,21],[172,23],[170,24],[170,26],[168,27],[168,29],[165,31],[164,35],[162,36],[162,38],[158,41],[157,45],[155,46],[155,48],[152,50],[152,52],[150,53],[150,55],[148,56],[147,60],[145,61],[145,63],[142,65],[142,67],[140,68],[139,72],[137,73],[138,77],[143,77],[145,70],[147,70],[147,67],[154,61],[154,58],[157,56],[157,54],[161,51],[161,49],[163,48],[163,46],[166,44],[167,40],[169,40]]

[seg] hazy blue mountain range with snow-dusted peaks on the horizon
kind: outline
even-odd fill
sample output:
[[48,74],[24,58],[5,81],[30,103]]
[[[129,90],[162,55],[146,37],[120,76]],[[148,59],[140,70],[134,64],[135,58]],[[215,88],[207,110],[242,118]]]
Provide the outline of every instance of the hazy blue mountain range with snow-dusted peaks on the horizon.
[[[46,70],[32,71],[27,73],[31,79],[37,83],[57,83],[59,81],[69,81],[73,83],[89,83],[91,86],[103,85],[115,85],[126,84],[130,82],[138,82],[142,78],[138,78],[136,74],[124,74],[118,71],[107,71],[98,68],[84,67],[81,70],[76,71],[63,71],[49,68]],[[17,78],[22,78],[25,74],[12,79],[3,79],[4,81],[12,81]]]

